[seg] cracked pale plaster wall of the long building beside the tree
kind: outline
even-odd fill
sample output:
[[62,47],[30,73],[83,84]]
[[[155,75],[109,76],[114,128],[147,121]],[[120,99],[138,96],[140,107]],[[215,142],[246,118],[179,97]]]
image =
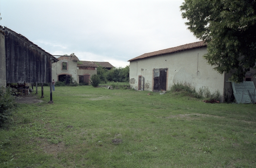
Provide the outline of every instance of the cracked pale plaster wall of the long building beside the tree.
[[203,55],[206,47],[164,54],[130,62],[130,85],[138,89],[138,76],[144,77],[144,90],[152,91],[153,69],[168,68],[167,90],[173,82],[189,83],[196,90],[208,86],[211,92],[219,90],[223,95],[224,75],[214,71]]

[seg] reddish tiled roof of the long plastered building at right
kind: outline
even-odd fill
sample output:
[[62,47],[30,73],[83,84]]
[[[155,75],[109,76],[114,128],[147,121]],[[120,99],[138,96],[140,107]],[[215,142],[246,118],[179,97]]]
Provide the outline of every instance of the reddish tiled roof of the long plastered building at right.
[[167,49],[164,49],[164,50],[145,53],[145,54],[142,54],[138,57],[132,58],[128,61],[133,61],[133,60],[147,58],[147,57],[153,57],[153,56],[157,56],[157,55],[170,54],[170,53],[174,53],[174,52],[190,50],[190,49],[193,49],[193,48],[206,47],[206,45],[207,45],[207,43],[205,41],[199,41],[199,42],[184,44],[184,45],[180,45],[180,46],[177,46],[177,47],[172,47],[172,48],[167,48]]

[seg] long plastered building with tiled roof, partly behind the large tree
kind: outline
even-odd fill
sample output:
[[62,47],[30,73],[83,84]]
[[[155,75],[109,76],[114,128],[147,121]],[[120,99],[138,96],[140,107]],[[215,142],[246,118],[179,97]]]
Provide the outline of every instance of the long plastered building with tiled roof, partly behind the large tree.
[[[219,90],[225,96],[233,93],[230,74],[219,74],[202,57],[207,53],[204,41],[145,53],[130,61],[130,85],[137,90],[168,90],[173,83],[188,83],[196,90],[207,86],[211,92]],[[256,83],[255,70],[246,74],[246,81]]]

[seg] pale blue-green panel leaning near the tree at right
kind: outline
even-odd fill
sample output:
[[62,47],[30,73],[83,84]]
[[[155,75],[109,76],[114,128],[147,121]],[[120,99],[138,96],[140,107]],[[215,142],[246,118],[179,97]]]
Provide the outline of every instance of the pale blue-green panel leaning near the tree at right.
[[255,102],[256,90],[252,81],[244,81],[243,83],[232,82],[232,87],[238,104]]

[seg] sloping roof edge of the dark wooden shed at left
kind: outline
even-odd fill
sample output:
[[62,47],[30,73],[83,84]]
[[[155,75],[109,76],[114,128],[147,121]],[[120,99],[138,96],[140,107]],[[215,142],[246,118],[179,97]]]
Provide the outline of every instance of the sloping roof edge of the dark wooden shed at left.
[[31,46],[31,47],[34,46],[35,48],[37,48],[37,49],[40,50],[41,52],[44,52],[45,54],[47,54],[49,57],[52,58],[52,60],[53,60],[54,62],[59,61],[59,60],[58,60],[57,58],[55,58],[52,54],[46,52],[46,51],[43,50],[41,47],[39,47],[38,45],[34,44],[32,41],[30,41],[29,39],[27,39],[25,36],[23,36],[23,35],[21,35],[21,34],[18,34],[18,33],[16,33],[15,31],[13,31],[13,30],[11,30],[11,29],[5,27],[5,26],[1,26],[1,25],[0,25],[0,31],[3,32],[3,33],[6,33],[6,31],[10,31],[10,32],[14,33],[16,36],[19,36],[21,39],[23,39],[23,40],[27,41],[28,43],[30,43],[30,46]]

